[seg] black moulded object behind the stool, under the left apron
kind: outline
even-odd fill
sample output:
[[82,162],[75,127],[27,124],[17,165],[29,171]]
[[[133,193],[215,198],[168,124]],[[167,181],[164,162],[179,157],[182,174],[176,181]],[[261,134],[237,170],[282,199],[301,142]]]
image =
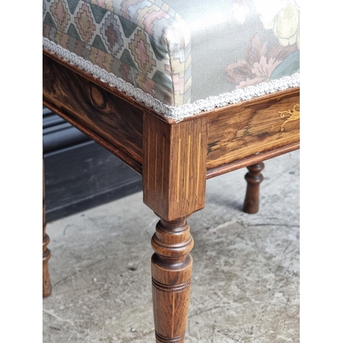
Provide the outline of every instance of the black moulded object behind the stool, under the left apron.
[[141,191],[141,175],[43,107],[46,220]]

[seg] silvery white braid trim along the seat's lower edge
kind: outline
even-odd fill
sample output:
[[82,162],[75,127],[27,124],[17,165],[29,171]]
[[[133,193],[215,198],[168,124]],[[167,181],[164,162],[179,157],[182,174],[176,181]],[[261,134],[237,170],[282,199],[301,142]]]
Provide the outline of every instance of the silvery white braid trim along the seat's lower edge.
[[196,115],[202,111],[213,110],[215,107],[222,107],[228,104],[236,104],[243,100],[252,99],[254,97],[261,97],[268,93],[274,93],[276,91],[283,91],[287,88],[293,88],[300,86],[300,73],[296,73],[291,76],[285,76],[279,80],[273,80],[268,83],[263,82],[255,86],[248,86],[243,89],[236,89],[230,93],[224,93],[221,95],[215,95],[206,99],[201,99],[192,104],[185,104],[182,106],[169,106],[163,104],[160,100],[155,99],[152,95],[143,92],[140,88],[132,86],[132,84],[124,81],[113,73],[92,64],[84,58],[74,54],[67,49],[64,49],[60,45],[52,42],[48,38],[43,37],[43,47],[63,60],[73,64],[80,69],[86,71],[98,78],[102,82],[108,83],[110,86],[117,88],[119,91],[126,93],[130,97],[134,97],[138,102],[143,102],[148,107],[154,108],[156,112],[162,113],[169,119],[176,121],[182,121],[187,117]]

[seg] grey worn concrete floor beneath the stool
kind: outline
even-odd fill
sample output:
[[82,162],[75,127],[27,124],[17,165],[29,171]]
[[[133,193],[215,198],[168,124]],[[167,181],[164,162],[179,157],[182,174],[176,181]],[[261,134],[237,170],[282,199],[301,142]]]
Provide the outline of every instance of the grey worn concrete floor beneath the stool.
[[[299,342],[299,152],[265,161],[260,211],[241,211],[246,169],[207,181],[186,342]],[[49,223],[53,293],[43,342],[154,342],[142,193]]]

